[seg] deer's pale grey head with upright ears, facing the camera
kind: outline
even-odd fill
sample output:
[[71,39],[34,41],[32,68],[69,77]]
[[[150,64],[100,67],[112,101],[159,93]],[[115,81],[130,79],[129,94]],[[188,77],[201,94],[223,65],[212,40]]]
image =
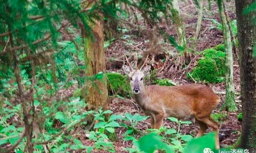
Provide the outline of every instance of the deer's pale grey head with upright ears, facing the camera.
[[123,69],[125,74],[127,74],[129,77],[131,89],[133,89],[134,94],[138,94],[145,90],[144,76],[149,73],[150,68],[151,66],[149,65],[143,68],[143,70],[134,70],[127,65],[123,65]]

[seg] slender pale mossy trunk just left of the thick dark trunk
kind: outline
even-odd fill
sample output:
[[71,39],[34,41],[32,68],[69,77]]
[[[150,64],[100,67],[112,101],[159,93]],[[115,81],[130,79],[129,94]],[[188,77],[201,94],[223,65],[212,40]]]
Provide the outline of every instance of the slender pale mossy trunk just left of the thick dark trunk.
[[235,88],[234,88],[234,80],[233,80],[233,56],[232,56],[232,43],[231,43],[231,35],[228,28],[226,16],[223,9],[222,0],[218,0],[219,5],[219,13],[221,18],[221,23],[223,27],[223,37],[224,37],[224,45],[226,48],[226,101],[224,102],[222,108],[220,110],[227,110],[230,112],[237,111],[237,106],[235,103]]

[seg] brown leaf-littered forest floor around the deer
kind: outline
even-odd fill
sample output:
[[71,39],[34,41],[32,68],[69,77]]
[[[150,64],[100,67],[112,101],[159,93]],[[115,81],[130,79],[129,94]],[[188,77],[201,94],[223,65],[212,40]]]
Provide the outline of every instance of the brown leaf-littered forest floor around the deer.
[[[227,1],[226,2],[226,8],[228,9],[228,14],[231,18],[231,21],[236,19],[235,15],[235,4],[234,1]],[[197,9],[196,6],[192,3],[189,2],[182,2],[180,3],[180,11],[181,11],[181,16],[184,20],[185,23],[185,31],[186,31],[186,37],[188,40],[189,46],[191,46],[192,42],[192,37],[195,34],[196,31],[196,22],[197,22]],[[198,38],[198,43],[196,45],[196,51],[202,51],[206,48],[211,48],[214,47],[215,45],[223,43],[223,36],[222,32],[217,29],[217,28],[212,28],[214,24],[212,21],[208,19],[215,19],[220,23],[220,17],[218,13],[218,7],[216,2],[212,2],[212,11],[208,11],[208,3],[207,1],[204,1],[203,4],[203,18],[202,18],[202,26],[201,26],[201,31],[200,35]],[[208,19],[207,19],[208,18]],[[143,25],[142,25],[143,27]],[[176,36],[176,30],[174,26],[170,27],[162,27],[167,31],[168,34],[173,35],[177,38]],[[107,47],[106,50],[106,56],[107,56],[107,71],[108,72],[119,72],[122,73],[121,66],[125,62],[124,57],[122,57],[124,54],[131,55],[131,54],[143,54],[143,51],[147,51],[147,41],[149,40],[149,34],[147,33],[142,33],[140,35],[136,34],[134,31],[128,31],[124,32],[125,38],[119,38],[114,40],[110,46]],[[129,35],[129,36],[128,36]],[[161,41],[159,39],[159,41]],[[179,53],[175,50],[174,47],[172,47],[170,44],[167,43],[162,43],[162,51],[171,51],[170,54],[172,54],[173,57],[177,57]],[[160,53],[161,54],[161,53]],[[196,57],[196,56],[195,56]],[[132,57],[131,57],[132,58]],[[161,57],[159,57],[161,58]],[[155,58],[155,63],[154,66],[155,68],[162,68],[162,65],[170,64],[170,63],[161,63],[161,60],[159,58]],[[110,60],[110,59],[115,59],[115,60]],[[198,57],[196,58],[188,58],[189,62],[192,60],[195,60],[194,64],[192,64],[192,67],[196,65],[196,62],[198,61]],[[170,61],[170,60],[169,60]],[[235,83],[235,90],[236,92],[240,92],[240,77],[239,77],[239,67],[238,67],[238,62],[234,60],[234,83]],[[168,78],[172,79],[177,85],[182,85],[182,84],[187,84],[187,83],[194,83],[191,82],[186,78],[184,74],[189,72],[190,69],[186,69],[181,75],[176,75],[175,72],[177,71],[171,71],[169,67],[165,67],[162,69],[161,73],[158,74],[159,78]],[[225,93],[225,83],[219,83],[219,84],[206,84],[207,86],[211,87],[214,91],[222,91]],[[219,95],[221,102],[217,106],[217,108],[214,110],[214,113],[220,113],[219,109],[223,102],[225,101],[225,94]],[[237,106],[238,106],[238,112],[235,113],[229,113],[226,111],[222,111],[221,113],[226,113],[228,115],[228,118],[225,119],[223,123],[219,123],[219,128],[220,128],[220,133],[225,134],[225,137],[220,140],[220,145],[232,145],[236,140],[238,139],[238,136],[240,135],[241,131],[241,122],[238,121],[238,113],[241,112],[241,102],[239,101],[239,96],[236,95],[236,100]],[[110,102],[110,109],[114,113],[122,114],[122,113],[139,113],[141,115],[145,115],[143,111],[136,105],[133,99],[119,99],[115,98]],[[193,122],[192,125],[181,125],[181,132],[183,134],[190,134],[192,136],[195,136],[197,131],[199,130],[199,126],[194,122],[194,119],[185,119],[185,120],[190,120]],[[144,122],[140,122],[137,125],[137,129],[145,131],[150,127],[150,119],[148,118]],[[168,128],[175,128],[177,129],[177,124],[165,119],[164,121],[164,126]],[[211,129],[208,129],[207,131],[209,132]],[[116,153],[124,153],[125,151],[123,150],[123,147],[131,147],[132,143],[131,141],[123,141],[122,139],[122,134],[124,134],[125,129],[123,128],[117,128],[116,133],[117,133],[117,141],[114,142],[114,146],[116,149]],[[85,140],[86,143],[86,140]],[[88,142],[89,143],[89,142]],[[104,153],[104,151],[100,150],[95,150],[93,151],[94,153]]]

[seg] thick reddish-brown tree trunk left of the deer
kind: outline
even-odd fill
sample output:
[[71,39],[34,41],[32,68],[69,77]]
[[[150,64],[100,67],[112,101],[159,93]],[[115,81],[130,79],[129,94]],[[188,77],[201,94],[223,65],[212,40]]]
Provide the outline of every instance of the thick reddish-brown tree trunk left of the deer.
[[[93,23],[92,23],[93,24]],[[86,76],[93,76],[99,72],[106,70],[103,26],[102,22],[95,20],[91,26],[94,39],[90,39],[85,35],[84,38],[84,55],[86,65]],[[86,81],[84,97],[88,105],[88,109],[104,107],[107,104],[107,79],[105,74],[101,80]]]

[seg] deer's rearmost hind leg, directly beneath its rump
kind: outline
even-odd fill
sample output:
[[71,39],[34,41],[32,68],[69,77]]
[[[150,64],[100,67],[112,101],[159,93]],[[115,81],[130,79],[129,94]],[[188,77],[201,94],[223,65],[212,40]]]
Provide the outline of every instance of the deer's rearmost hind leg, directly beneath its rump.
[[210,116],[200,119],[201,122],[205,123],[208,127],[211,127],[215,132],[215,147],[216,149],[220,149],[220,142],[219,142],[219,125],[217,122],[214,121]]

